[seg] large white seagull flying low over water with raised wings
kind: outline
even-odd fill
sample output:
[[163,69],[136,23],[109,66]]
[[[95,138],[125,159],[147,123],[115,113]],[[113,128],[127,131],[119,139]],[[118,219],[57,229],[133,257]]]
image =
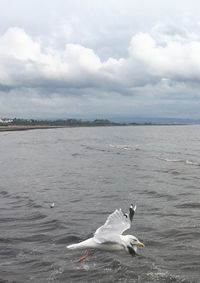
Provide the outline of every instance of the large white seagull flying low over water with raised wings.
[[99,249],[104,251],[120,251],[125,250],[131,256],[137,255],[137,248],[144,247],[133,235],[122,235],[124,231],[131,227],[131,222],[136,211],[136,206],[131,204],[129,214],[124,213],[121,208],[111,213],[104,225],[99,227],[94,236],[77,244],[67,246],[70,250],[85,250],[79,261],[84,260],[88,256],[87,249]]

